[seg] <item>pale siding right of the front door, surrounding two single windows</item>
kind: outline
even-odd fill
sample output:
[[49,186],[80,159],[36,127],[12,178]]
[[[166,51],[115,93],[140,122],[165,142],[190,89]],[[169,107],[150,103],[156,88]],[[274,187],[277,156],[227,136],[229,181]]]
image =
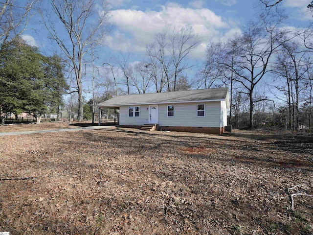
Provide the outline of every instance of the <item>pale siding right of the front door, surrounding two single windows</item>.
[[[197,104],[203,103],[205,117],[197,117]],[[173,104],[174,117],[167,117],[167,105],[158,105],[160,126],[221,127],[221,101]]]

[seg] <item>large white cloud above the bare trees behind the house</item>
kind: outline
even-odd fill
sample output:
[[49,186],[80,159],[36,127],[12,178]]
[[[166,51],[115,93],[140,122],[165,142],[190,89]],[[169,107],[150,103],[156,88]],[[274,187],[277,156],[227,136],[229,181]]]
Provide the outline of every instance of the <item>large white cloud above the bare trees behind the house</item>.
[[146,51],[146,45],[154,42],[156,33],[167,27],[191,27],[200,39],[200,47],[193,53],[199,58],[205,53],[210,41],[227,40],[234,32],[240,31],[237,25],[216,15],[207,8],[184,8],[176,3],[167,3],[159,11],[118,9],[111,11],[111,21],[116,31],[107,37],[107,45],[123,52]]

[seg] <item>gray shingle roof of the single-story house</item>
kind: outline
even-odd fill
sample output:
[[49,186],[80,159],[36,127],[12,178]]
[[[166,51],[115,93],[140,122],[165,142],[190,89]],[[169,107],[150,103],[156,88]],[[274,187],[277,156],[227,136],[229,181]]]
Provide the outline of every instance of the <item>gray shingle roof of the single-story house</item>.
[[188,90],[150,94],[118,95],[97,104],[98,107],[119,107],[122,105],[183,103],[196,101],[225,100],[229,106],[228,88]]

